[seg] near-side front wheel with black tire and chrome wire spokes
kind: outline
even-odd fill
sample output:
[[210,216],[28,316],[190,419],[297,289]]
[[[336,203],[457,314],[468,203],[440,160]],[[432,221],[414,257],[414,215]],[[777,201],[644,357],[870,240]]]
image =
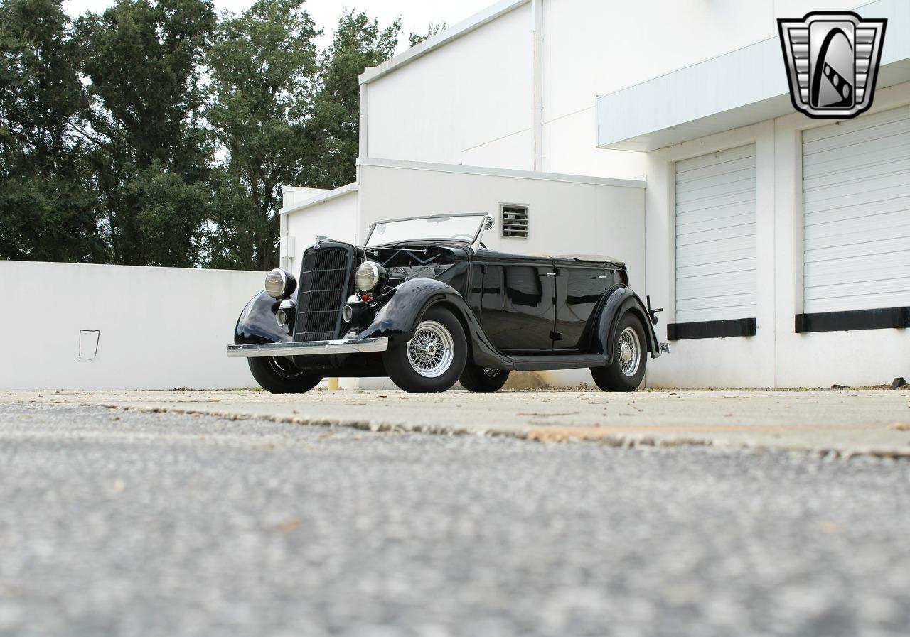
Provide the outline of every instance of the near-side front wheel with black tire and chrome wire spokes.
[[438,306],[420,317],[410,341],[393,345],[382,355],[392,383],[408,393],[445,392],[458,381],[467,361],[468,340],[461,323]]

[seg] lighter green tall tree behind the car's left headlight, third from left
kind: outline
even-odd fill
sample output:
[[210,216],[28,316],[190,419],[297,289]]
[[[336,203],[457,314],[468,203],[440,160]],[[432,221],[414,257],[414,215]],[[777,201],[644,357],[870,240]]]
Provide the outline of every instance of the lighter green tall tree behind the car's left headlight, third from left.
[[318,31],[302,0],[258,0],[218,25],[208,52],[219,146],[209,263],[266,270],[278,263],[281,184],[305,181]]

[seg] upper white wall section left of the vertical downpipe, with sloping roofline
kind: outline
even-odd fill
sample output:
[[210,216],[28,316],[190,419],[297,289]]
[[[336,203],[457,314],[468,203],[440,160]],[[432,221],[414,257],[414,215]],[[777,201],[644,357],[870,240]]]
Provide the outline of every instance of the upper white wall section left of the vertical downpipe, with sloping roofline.
[[361,156],[469,164],[480,144],[518,137],[485,149],[484,164],[530,169],[515,148],[531,127],[530,6],[371,82]]

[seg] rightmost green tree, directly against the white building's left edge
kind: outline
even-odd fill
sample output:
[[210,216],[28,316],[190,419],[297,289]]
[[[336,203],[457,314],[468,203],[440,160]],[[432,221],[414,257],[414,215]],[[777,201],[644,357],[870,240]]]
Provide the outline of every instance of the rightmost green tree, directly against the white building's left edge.
[[356,178],[359,152],[358,77],[366,66],[377,66],[395,53],[401,20],[386,28],[365,13],[348,11],[339,18],[329,50],[322,55],[319,94],[310,121],[319,155],[306,185],[337,188]]

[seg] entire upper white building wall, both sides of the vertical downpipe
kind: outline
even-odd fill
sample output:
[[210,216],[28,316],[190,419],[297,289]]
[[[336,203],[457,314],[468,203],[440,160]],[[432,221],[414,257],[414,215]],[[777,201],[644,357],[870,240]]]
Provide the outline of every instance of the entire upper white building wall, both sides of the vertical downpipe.
[[[531,170],[539,75],[536,168],[640,176],[643,154],[595,147],[597,95],[776,35],[779,17],[856,5],[855,0],[832,0],[824,7],[814,0],[532,0],[367,82],[368,134],[360,154]],[[533,45],[538,10],[540,66]]]

